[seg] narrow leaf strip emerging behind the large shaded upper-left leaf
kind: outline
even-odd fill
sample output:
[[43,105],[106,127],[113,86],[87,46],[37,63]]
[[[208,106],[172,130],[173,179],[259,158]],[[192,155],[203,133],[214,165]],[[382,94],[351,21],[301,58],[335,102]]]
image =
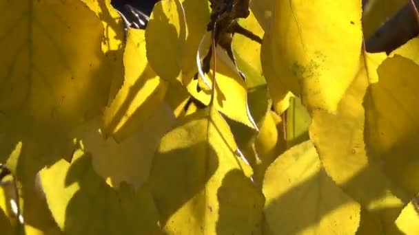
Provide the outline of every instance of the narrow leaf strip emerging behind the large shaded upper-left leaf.
[[110,60],[114,60],[113,67],[109,67],[108,73],[112,78],[109,101],[111,102],[123,84],[123,42],[125,35],[123,21],[118,12],[110,4],[111,0],[81,0],[96,13],[102,21],[105,35],[102,38],[102,51]]

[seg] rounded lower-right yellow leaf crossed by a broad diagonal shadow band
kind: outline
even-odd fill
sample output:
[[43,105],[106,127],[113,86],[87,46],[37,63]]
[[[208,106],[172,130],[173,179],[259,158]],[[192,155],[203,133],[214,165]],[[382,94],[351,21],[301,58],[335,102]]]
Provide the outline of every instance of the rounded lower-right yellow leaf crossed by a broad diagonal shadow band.
[[323,170],[304,142],[280,155],[263,181],[265,218],[274,234],[354,234],[360,205]]

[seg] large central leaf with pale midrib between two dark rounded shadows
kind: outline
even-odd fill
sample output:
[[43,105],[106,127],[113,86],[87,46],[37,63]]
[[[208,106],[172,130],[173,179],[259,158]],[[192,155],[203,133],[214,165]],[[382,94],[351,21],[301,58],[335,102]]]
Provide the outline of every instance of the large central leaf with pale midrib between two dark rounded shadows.
[[168,234],[252,234],[263,195],[238,157],[229,126],[215,109],[180,120],[161,140],[150,187]]

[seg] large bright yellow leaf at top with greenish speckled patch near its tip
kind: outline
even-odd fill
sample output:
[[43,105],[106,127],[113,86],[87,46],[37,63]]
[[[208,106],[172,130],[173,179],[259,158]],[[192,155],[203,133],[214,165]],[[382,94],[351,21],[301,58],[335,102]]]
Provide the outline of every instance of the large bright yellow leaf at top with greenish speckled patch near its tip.
[[362,45],[361,0],[276,0],[272,63],[276,76],[311,109],[336,111],[358,71]]

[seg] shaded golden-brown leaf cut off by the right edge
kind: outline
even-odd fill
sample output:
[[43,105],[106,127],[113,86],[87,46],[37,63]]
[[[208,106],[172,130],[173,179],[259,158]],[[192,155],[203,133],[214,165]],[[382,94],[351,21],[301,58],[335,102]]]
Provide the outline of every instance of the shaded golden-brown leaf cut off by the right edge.
[[[403,71],[403,72],[400,72]],[[379,82],[365,95],[365,143],[371,157],[383,161],[386,175],[409,200],[419,192],[419,65],[395,55],[378,67]]]

